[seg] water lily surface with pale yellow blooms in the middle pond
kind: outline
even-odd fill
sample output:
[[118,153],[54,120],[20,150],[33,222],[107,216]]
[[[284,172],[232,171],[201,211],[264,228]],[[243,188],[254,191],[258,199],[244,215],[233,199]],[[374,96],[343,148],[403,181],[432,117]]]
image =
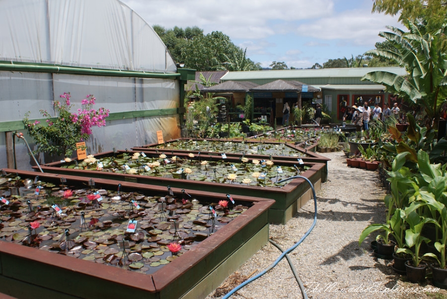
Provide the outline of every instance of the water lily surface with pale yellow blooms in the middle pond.
[[272,160],[247,157],[241,157],[237,161],[228,161],[221,156],[193,153],[167,156],[160,152],[156,157],[149,157],[143,152],[124,152],[101,158],[91,155],[83,161],[60,164],[60,167],[268,187],[282,187],[290,181],[283,183],[277,183],[277,181],[297,175],[309,168],[300,165],[298,161],[292,166],[275,165]]

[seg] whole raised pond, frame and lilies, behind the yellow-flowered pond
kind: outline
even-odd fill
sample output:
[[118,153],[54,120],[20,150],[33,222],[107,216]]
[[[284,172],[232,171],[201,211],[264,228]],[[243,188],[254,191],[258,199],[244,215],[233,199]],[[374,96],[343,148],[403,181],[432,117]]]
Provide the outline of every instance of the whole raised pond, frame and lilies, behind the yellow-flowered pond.
[[215,139],[175,139],[164,144],[150,144],[132,148],[134,151],[144,151],[151,156],[158,156],[161,152],[165,154],[179,155],[184,153],[201,153],[206,155],[225,153],[227,157],[250,159],[272,159],[274,161],[290,161],[297,163],[298,159],[303,162],[324,163],[322,182],[327,180],[327,162],[330,160],[315,153],[316,144],[310,148],[302,148],[299,145],[288,142],[274,142],[259,138],[258,140],[215,140]]

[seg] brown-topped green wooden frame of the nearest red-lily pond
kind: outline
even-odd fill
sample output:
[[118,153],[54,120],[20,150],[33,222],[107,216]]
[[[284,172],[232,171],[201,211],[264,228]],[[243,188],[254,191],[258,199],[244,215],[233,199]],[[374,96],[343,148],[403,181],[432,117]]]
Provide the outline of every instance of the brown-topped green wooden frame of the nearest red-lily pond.
[[[60,184],[61,175],[4,169],[21,178]],[[64,175],[67,185],[89,179]],[[96,188],[116,188],[117,181],[95,179]],[[121,182],[124,192],[165,194],[166,188]],[[180,189],[172,188],[175,194]],[[226,194],[186,190],[204,201]],[[37,248],[0,241],[1,292],[15,298],[205,298],[268,241],[268,212],[272,200],[234,195],[253,205],[220,230],[153,274],[141,274]]]

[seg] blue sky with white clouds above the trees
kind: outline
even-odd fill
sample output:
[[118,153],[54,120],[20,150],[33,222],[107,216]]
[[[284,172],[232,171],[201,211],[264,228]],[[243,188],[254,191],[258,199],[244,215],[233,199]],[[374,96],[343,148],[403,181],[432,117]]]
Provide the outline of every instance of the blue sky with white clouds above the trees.
[[198,26],[222,31],[247,48],[247,57],[268,67],[273,61],[310,68],[329,59],[351,58],[383,41],[398,17],[372,13],[373,0],[121,0],[150,25]]

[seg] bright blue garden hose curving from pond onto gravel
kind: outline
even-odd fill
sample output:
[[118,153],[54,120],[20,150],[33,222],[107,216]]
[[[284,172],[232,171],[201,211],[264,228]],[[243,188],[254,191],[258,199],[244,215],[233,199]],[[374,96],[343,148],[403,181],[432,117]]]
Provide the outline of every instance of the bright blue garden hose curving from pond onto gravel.
[[[307,181],[307,183],[309,183],[310,188],[312,189],[312,194],[313,194],[313,204],[314,204],[314,208],[315,208],[315,212],[313,215],[313,223],[312,225],[310,225],[310,228],[306,231],[306,233],[299,239],[298,242],[296,242],[292,247],[288,248],[286,251],[284,251],[276,260],[275,262],[273,262],[273,264],[271,264],[267,269],[265,269],[264,271],[262,271],[261,273],[259,273],[258,275],[244,281],[243,283],[241,283],[240,285],[238,285],[237,287],[235,287],[233,290],[231,290],[228,294],[226,294],[224,297],[222,297],[222,299],[228,299],[231,295],[233,295],[234,293],[236,293],[237,291],[239,291],[240,289],[242,289],[243,287],[245,287],[246,285],[248,285],[249,283],[257,280],[258,278],[260,278],[261,276],[263,276],[264,274],[266,274],[268,271],[270,271],[271,269],[273,269],[276,265],[278,265],[278,263],[290,252],[292,252],[295,248],[298,247],[299,244],[301,244],[301,242],[309,235],[309,233],[312,231],[313,227],[316,224],[316,216],[317,216],[317,207],[316,207],[316,195],[315,195],[315,189],[313,188],[312,183],[310,182],[310,180],[306,177],[303,177],[301,175],[296,175],[296,176],[292,176],[289,177],[287,179],[278,181],[277,183],[282,183],[288,180],[292,180],[292,179],[296,179],[296,178],[301,178],[304,179],[305,181]],[[302,289],[302,286],[299,286],[301,288],[301,293],[303,294],[303,298],[306,299],[307,296],[304,292],[304,290]]]

